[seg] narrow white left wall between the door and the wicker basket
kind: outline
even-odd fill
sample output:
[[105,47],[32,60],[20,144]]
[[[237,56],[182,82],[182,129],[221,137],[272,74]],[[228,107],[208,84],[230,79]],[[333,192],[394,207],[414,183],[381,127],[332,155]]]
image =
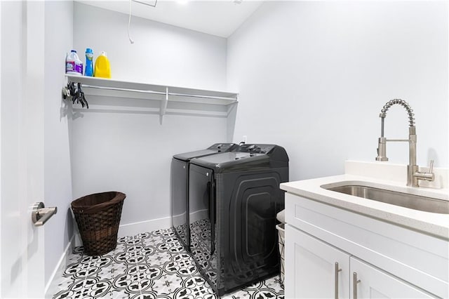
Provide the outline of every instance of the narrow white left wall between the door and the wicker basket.
[[70,212],[72,173],[70,166],[67,103],[62,100],[65,84],[65,53],[73,43],[72,1],[45,3],[45,123],[44,172],[46,206],[58,213],[45,225],[45,281],[51,274],[74,233]]

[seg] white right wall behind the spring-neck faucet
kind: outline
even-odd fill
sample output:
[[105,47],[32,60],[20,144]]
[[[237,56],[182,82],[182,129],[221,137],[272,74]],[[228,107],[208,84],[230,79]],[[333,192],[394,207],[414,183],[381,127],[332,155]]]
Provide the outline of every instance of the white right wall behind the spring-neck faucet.
[[[417,163],[448,167],[448,3],[285,1],[263,4],[228,39],[228,87],[239,91],[234,139],[286,147],[290,180],[374,161],[380,109],[415,110]],[[391,107],[387,138],[407,138]],[[408,164],[408,145],[388,144]]]

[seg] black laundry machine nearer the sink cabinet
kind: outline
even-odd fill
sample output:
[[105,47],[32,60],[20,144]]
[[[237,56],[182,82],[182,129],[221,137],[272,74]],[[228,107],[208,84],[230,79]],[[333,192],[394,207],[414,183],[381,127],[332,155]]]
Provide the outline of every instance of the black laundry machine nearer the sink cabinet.
[[279,273],[276,213],[287,181],[288,155],[278,145],[190,161],[190,250],[217,295]]

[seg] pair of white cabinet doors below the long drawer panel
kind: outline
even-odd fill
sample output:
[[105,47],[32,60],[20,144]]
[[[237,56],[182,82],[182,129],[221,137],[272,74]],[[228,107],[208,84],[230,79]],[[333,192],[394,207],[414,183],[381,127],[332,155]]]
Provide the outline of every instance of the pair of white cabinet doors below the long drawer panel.
[[286,298],[434,298],[290,225],[286,261]]

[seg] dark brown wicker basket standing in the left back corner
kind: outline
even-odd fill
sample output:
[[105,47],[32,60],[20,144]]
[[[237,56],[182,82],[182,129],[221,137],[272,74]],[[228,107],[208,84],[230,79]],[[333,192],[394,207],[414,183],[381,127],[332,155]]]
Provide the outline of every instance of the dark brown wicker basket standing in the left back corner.
[[86,255],[102,255],[116,248],[125,198],[121,192],[103,192],[72,201]]

